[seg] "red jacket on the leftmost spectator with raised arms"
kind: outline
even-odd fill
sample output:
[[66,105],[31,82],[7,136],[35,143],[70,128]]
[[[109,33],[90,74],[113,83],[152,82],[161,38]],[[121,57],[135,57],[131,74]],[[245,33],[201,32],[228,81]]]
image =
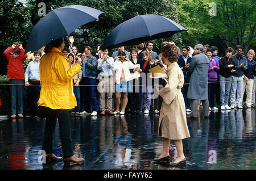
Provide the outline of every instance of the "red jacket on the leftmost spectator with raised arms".
[[24,79],[23,62],[26,60],[27,54],[24,54],[25,50],[22,48],[20,49],[18,58],[14,58],[10,55],[13,50],[12,47],[9,47],[3,52],[8,61],[7,78],[16,80]]

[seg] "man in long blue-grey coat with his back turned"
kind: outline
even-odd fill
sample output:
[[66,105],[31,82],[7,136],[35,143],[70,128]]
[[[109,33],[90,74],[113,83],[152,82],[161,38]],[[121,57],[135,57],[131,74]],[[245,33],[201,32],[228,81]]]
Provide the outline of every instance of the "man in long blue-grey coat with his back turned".
[[192,116],[188,118],[197,118],[197,100],[201,100],[204,108],[204,118],[209,118],[208,101],[208,69],[209,58],[204,54],[204,46],[197,44],[195,46],[195,56],[189,64],[188,72],[191,74],[187,98],[191,99]]

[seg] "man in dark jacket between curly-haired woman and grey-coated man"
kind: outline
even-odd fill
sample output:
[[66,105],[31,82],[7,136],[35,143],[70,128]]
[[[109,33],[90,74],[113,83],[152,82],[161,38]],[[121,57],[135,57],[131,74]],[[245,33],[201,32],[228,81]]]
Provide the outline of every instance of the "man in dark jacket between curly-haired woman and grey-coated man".
[[190,100],[187,98],[188,94],[188,83],[190,79],[190,74],[188,72],[189,64],[192,60],[191,57],[188,56],[189,48],[188,47],[183,47],[182,48],[182,54],[179,57],[179,60],[177,61],[177,64],[179,64],[180,69],[183,71],[184,74],[184,85],[181,89],[184,100],[185,100],[185,106],[186,106],[186,111],[190,112]]

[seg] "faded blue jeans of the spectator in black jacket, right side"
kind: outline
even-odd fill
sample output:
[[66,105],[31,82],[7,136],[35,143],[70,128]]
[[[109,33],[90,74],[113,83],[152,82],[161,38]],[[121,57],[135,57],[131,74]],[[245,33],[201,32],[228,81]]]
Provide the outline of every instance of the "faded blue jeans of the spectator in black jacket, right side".
[[228,105],[229,101],[229,91],[231,87],[231,82],[225,82],[225,81],[231,81],[232,77],[222,77],[220,75],[220,101],[221,106]]

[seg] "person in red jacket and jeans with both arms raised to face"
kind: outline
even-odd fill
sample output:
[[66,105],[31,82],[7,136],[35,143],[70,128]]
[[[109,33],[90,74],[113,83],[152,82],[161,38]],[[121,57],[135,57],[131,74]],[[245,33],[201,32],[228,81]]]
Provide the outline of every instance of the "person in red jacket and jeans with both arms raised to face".
[[[13,55],[10,55],[11,52]],[[27,58],[24,52],[22,44],[13,44],[3,52],[8,61],[7,78],[10,78],[11,118],[15,118],[16,113],[18,117],[23,117],[23,62]]]

